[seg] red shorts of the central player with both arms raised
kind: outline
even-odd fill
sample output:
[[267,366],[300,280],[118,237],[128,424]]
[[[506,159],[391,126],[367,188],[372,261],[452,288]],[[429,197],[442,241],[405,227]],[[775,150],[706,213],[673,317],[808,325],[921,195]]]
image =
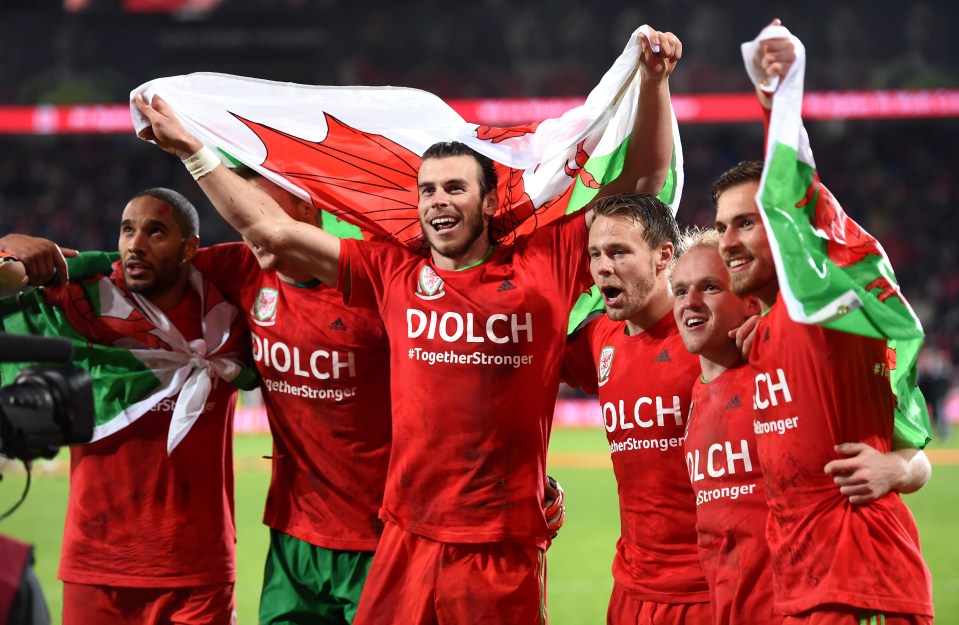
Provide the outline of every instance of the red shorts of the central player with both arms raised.
[[543,552],[438,543],[387,522],[353,625],[543,625]]

